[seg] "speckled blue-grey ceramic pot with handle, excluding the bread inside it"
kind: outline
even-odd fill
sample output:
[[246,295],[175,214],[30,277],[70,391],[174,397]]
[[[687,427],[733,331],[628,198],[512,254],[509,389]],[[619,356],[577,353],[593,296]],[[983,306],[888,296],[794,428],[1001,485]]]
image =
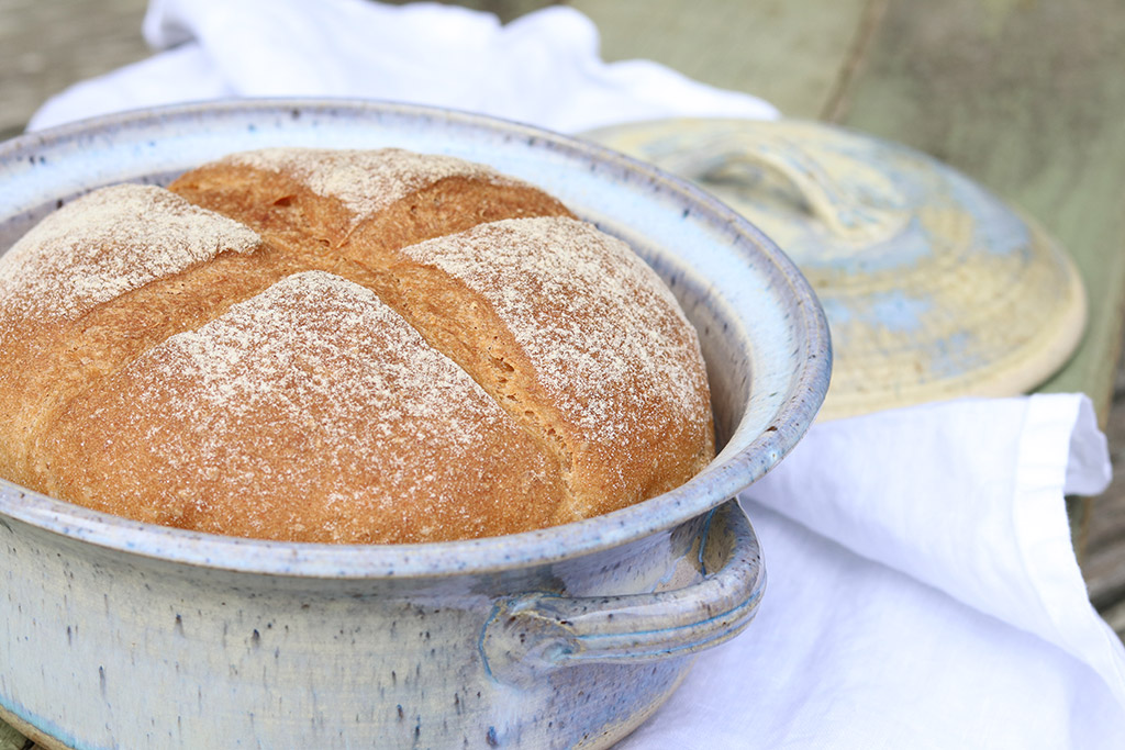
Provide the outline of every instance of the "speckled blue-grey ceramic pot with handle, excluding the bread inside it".
[[[252,101],[0,146],[0,249],[75,195],[274,145],[492,164],[632,243],[700,332],[721,452],[582,523],[423,545],[240,540],[0,486],[0,715],[48,747],[602,747],[750,622],[764,570],[732,496],[824,399],[808,284],[745,219],[600,146],[477,116]],[[143,446],[138,446],[143,450]]]

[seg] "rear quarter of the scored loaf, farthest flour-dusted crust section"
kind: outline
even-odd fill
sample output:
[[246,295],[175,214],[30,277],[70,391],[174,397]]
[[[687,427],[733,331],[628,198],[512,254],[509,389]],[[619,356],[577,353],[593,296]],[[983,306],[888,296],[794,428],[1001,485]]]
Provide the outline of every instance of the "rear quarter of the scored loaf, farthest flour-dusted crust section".
[[[317,172],[343,175],[352,182],[377,174],[367,180],[371,183],[368,190],[386,198],[366,201],[346,191],[333,195],[333,182],[346,184],[348,180]],[[413,188],[395,191],[388,184]],[[558,200],[526,183],[468,162],[436,156],[418,160],[395,148],[235,154],[184,174],[170,190],[308,252],[328,249],[339,253],[359,232],[363,241],[350,243],[351,252],[344,254],[369,264],[389,251],[485,222],[572,216]],[[358,257],[357,252],[361,253]]]

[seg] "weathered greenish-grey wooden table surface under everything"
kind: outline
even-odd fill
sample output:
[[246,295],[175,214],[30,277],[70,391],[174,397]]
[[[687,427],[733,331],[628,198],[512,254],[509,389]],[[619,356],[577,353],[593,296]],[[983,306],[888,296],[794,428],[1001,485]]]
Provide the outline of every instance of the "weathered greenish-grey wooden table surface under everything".
[[[465,1],[502,19],[541,0]],[[609,60],[645,57],[792,117],[899,141],[1035,216],[1073,254],[1090,322],[1043,389],[1094,400],[1125,449],[1125,6],[1119,0],[572,0]],[[46,97],[145,57],[144,0],[0,0],[0,136]],[[705,12],[704,9],[705,8]],[[1115,407],[1115,396],[1117,404]],[[1125,481],[1082,510],[1091,599],[1125,633]],[[0,725],[0,750],[32,747]]]

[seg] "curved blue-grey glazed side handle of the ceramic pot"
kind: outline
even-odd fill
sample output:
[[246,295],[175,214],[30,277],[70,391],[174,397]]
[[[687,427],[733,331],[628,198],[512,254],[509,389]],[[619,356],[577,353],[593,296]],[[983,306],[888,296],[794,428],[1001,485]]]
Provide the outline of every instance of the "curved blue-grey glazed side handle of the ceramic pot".
[[754,618],[765,588],[758,541],[737,500],[708,515],[700,550],[703,580],[684,588],[498,600],[480,636],[485,669],[520,684],[560,667],[681,657],[734,638]]

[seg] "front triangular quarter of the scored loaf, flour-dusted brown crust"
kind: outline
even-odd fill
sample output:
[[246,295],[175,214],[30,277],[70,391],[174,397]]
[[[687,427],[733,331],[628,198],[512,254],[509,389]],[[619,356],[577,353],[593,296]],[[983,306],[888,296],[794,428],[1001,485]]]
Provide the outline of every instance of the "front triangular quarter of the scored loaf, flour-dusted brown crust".
[[320,271],[150,349],[47,435],[60,496],[213,533],[478,536],[544,525],[560,493],[557,466],[462,370]]

